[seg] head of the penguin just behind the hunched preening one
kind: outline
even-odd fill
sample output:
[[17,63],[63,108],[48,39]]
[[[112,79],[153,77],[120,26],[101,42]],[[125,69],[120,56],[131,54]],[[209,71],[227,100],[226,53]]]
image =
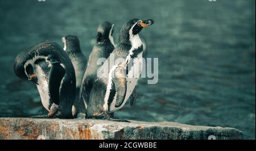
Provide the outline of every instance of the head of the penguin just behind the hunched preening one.
[[77,36],[68,35],[62,37],[62,42],[64,44],[64,51],[67,53],[80,52],[80,42]]

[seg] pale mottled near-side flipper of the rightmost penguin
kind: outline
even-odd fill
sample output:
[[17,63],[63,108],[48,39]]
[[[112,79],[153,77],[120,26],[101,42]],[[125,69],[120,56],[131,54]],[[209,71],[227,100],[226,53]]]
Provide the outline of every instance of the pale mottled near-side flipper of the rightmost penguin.
[[125,69],[122,66],[118,66],[114,70],[114,74],[115,76],[113,78],[113,82],[115,84],[115,92],[117,94],[115,107],[120,107],[123,101],[125,100],[126,89],[127,89]]

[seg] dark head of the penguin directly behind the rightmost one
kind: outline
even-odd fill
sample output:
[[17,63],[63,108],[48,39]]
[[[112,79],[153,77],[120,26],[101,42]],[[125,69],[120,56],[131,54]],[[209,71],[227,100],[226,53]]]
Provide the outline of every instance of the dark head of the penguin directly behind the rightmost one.
[[114,45],[113,33],[114,24],[108,21],[100,23],[97,28],[97,43],[106,43],[110,41]]

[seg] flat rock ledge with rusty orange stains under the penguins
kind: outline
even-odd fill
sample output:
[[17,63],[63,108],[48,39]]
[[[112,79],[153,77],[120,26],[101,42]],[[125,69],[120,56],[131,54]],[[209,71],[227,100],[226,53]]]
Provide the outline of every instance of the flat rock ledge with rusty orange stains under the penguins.
[[242,139],[234,128],[174,122],[0,118],[0,139]]

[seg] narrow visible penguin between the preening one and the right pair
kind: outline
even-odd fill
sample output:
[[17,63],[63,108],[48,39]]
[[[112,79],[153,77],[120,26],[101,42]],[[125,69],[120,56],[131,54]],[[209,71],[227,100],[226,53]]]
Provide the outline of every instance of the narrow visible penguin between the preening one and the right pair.
[[73,116],[76,118],[77,114],[85,113],[84,102],[80,102],[80,87],[82,82],[82,77],[84,76],[84,72],[86,69],[87,60],[80,48],[80,41],[78,37],[73,35],[68,35],[62,37],[62,41],[64,44],[64,51],[68,54],[71,62],[75,68],[76,74],[76,99],[73,104],[72,112]]

